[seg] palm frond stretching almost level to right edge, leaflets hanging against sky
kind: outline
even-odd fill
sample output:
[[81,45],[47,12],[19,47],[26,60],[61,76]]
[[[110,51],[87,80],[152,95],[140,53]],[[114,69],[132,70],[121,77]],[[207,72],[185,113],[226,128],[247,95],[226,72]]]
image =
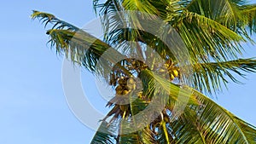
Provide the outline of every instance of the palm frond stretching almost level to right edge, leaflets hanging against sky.
[[[220,89],[222,84],[226,86],[230,81],[240,83],[235,73],[242,78],[243,72],[256,72],[256,60],[238,59],[223,62],[197,63],[193,67],[193,87],[204,92]],[[209,90],[212,89],[212,90]]]

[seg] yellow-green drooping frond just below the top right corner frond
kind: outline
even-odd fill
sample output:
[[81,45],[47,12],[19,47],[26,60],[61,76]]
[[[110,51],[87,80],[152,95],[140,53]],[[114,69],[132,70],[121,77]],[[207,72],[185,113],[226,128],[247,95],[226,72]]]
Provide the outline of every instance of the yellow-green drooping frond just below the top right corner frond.
[[236,59],[244,38],[205,16],[186,12],[178,32],[195,62]]

